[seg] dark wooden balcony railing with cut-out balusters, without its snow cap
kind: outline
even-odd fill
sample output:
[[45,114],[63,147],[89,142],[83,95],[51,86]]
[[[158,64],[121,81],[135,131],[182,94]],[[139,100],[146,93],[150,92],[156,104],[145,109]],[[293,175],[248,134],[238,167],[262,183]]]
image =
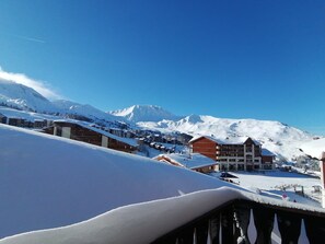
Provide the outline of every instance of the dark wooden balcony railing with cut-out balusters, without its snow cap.
[[[251,223],[253,222],[253,224]],[[253,234],[252,228],[253,225]],[[277,228],[276,228],[277,226]],[[275,233],[278,230],[278,234]],[[254,239],[249,239],[255,235]],[[324,243],[325,212],[231,200],[164,234],[155,244]]]

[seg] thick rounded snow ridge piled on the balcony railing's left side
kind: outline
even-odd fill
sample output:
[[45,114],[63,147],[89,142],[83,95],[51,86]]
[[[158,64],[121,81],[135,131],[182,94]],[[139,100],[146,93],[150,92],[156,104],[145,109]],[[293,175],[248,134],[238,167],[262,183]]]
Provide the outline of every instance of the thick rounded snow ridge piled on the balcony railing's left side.
[[151,243],[164,233],[235,198],[245,197],[228,187],[199,191],[121,207],[70,226],[3,239],[0,244]]

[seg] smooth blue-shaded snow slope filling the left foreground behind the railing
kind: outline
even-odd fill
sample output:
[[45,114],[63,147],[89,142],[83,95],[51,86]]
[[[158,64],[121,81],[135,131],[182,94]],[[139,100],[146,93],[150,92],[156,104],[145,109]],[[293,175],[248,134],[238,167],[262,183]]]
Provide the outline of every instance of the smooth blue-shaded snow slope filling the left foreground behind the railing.
[[[142,156],[0,125],[0,237],[228,183]],[[126,223],[127,224],[127,223]]]

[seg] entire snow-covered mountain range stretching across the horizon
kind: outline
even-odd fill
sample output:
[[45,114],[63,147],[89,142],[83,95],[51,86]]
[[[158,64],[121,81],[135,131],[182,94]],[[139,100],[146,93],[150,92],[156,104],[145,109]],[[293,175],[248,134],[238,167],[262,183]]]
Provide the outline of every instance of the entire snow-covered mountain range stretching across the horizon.
[[0,105],[27,112],[72,116],[76,119],[89,119],[107,126],[116,121],[128,121],[142,129],[213,136],[221,140],[248,136],[286,161],[292,161],[301,155],[303,152],[299,150],[300,146],[313,140],[312,135],[279,121],[225,119],[201,115],[181,117],[153,105],[135,105],[105,113],[91,105],[70,101],[49,102],[35,90],[3,79],[0,79]]

